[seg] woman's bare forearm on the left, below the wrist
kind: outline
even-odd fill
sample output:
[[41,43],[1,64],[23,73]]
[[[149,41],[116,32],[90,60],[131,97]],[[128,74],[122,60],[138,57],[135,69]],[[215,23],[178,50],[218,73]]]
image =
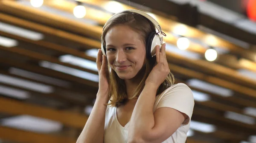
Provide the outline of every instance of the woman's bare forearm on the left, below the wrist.
[[76,143],[103,143],[107,100],[97,95],[92,112]]

